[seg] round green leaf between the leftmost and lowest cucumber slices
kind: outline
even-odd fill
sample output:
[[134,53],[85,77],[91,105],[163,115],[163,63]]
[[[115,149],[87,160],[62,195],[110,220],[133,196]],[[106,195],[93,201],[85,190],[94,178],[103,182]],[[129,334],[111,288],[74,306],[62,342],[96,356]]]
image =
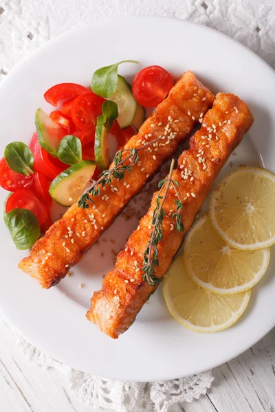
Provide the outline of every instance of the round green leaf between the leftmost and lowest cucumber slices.
[[67,135],[61,140],[57,149],[58,159],[66,165],[75,165],[82,160],[81,141],[78,137]]

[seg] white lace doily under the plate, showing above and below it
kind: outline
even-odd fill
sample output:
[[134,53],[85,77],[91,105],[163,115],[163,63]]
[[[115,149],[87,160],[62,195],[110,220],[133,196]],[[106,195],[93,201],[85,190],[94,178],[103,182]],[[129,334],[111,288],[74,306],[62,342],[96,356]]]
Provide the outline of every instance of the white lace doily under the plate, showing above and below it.
[[[50,38],[82,23],[126,15],[170,16],[208,25],[248,46],[275,67],[273,0],[1,0],[0,81],[17,62]],[[74,394],[94,407],[166,412],[172,404],[191,402],[205,394],[213,380],[210,371],[153,383],[98,378],[48,358],[17,332],[14,334],[25,356],[44,368],[61,371]]]

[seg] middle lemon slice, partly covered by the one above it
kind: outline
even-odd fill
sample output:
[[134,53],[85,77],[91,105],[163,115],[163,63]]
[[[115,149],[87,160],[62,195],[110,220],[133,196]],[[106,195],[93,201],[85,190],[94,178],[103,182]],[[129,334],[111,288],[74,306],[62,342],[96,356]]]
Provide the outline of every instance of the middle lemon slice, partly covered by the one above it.
[[231,295],[254,286],[270,262],[270,250],[232,249],[203,216],[184,241],[184,262],[192,280],[213,293]]

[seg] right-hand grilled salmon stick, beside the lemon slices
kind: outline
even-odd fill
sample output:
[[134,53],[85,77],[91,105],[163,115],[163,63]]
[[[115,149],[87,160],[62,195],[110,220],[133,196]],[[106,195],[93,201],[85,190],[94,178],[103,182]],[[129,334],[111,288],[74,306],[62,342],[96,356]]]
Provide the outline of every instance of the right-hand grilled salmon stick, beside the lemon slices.
[[[214,179],[252,123],[252,114],[242,100],[232,94],[217,95],[213,108],[203,118],[201,129],[190,139],[189,150],[181,154],[177,169],[173,171],[172,179],[179,182],[178,192],[184,203],[181,218],[185,233],[192,225]],[[142,280],[143,254],[150,240],[157,194],[153,195],[148,213],[140,220],[139,229],[133,232],[126,247],[118,254],[115,268],[104,277],[102,289],[91,298],[87,319],[96,323],[102,332],[113,339],[131,326],[137,313],[157,288]],[[184,236],[171,225],[168,217],[171,210],[175,211],[176,200],[175,192],[169,188],[164,203],[164,238],[158,245],[159,266],[155,267],[155,275],[159,278],[166,273]]]

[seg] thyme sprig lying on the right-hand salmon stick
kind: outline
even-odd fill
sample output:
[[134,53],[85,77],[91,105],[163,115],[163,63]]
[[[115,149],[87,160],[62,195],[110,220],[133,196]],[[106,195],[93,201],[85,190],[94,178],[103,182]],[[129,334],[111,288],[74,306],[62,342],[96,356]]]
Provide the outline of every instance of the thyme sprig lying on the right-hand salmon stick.
[[[155,275],[155,266],[159,266],[159,260],[158,260],[159,251],[157,249],[157,245],[159,244],[159,242],[162,241],[163,236],[164,236],[163,220],[164,220],[164,217],[166,216],[165,210],[164,210],[164,203],[166,201],[166,196],[167,196],[170,185],[172,185],[173,189],[175,190],[175,194],[177,196],[177,201],[175,201],[176,211],[172,216],[170,216],[170,219],[171,220],[175,219],[177,231],[179,232],[184,231],[184,225],[181,221],[181,211],[184,205],[181,202],[179,193],[177,192],[177,188],[176,188],[176,186],[179,187],[179,182],[174,181],[172,179],[174,164],[175,164],[175,160],[173,159],[170,165],[170,172],[168,174],[168,177],[159,182],[160,189],[159,189],[159,194],[157,195],[157,198],[156,198],[157,206],[155,207],[153,211],[153,217],[151,220],[151,225],[153,226],[153,230],[151,231],[150,240],[146,246],[146,249],[143,255],[142,278],[144,282],[147,281],[150,286],[155,286],[159,284],[159,282],[161,282],[161,279],[159,279],[159,277]],[[163,190],[164,190],[164,194],[162,195]]]

